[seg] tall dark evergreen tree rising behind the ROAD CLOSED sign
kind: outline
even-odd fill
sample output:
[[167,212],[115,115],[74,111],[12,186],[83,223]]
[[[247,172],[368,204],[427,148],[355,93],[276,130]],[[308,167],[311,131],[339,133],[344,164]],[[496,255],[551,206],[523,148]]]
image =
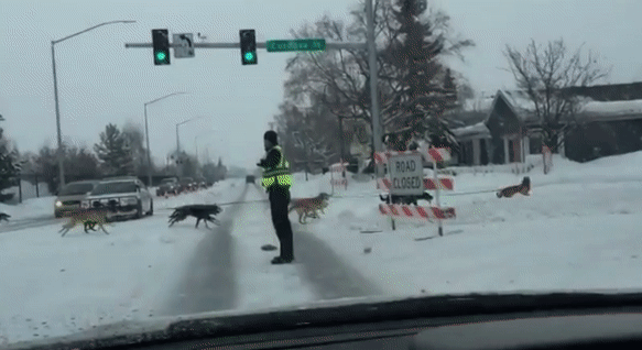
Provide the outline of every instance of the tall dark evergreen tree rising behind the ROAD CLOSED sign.
[[426,0],[399,0],[393,11],[402,34],[390,44],[385,57],[398,68],[398,83],[404,91],[401,108],[391,129],[400,139],[413,135],[428,139],[436,146],[456,146],[455,136],[442,118],[454,109],[457,88],[450,69],[437,59],[445,54],[446,37],[436,25],[422,20]]

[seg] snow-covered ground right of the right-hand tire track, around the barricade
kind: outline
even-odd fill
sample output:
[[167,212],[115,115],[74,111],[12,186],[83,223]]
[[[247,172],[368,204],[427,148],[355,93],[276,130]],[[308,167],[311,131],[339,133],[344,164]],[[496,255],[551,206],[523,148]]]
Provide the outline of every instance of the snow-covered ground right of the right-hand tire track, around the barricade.
[[641,163],[642,152],[585,164],[556,157],[553,173],[527,174],[532,196],[510,199],[494,190],[523,175],[455,176],[456,189],[442,196],[443,206],[457,210],[457,218],[444,221],[445,237],[437,236],[436,223],[416,220],[396,220],[393,231],[378,211],[374,183],[352,183],[304,229],[387,295],[635,288]]

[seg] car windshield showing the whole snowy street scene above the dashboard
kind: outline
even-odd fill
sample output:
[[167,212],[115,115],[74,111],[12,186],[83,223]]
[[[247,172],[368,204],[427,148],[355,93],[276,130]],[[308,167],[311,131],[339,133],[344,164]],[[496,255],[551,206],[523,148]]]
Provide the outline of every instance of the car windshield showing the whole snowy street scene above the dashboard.
[[642,0],[0,7],[0,348],[642,287]]

